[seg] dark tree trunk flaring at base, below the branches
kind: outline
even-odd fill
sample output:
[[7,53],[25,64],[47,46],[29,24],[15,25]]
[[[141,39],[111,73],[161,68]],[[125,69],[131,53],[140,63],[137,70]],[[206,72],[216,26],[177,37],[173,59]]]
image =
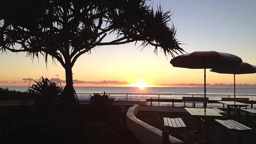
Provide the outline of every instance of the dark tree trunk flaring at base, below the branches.
[[59,104],[61,107],[65,107],[65,108],[79,107],[79,102],[73,87],[73,75],[72,75],[71,63],[69,64],[66,63],[65,72],[66,72],[66,86],[64,87]]

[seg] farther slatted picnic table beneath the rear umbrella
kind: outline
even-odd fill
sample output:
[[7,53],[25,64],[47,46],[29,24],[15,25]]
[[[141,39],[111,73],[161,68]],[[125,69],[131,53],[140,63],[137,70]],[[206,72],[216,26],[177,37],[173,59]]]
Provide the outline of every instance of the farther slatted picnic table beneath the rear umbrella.
[[234,107],[236,109],[236,111],[237,111],[236,121],[240,120],[240,109],[242,107],[246,107],[246,106],[249,105],[249,104],[245,104],[245,103],[241,103],[241,102],[237,102],[237,101],[218,101],[218,102],[227,105],[228,116],[226,116],[224,118],[229,118],[230,117],[230,107]]

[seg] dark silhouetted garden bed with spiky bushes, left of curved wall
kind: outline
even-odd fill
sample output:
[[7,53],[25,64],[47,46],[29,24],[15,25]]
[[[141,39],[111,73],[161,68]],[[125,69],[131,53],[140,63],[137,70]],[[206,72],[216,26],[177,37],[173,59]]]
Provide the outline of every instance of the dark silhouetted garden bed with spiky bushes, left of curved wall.
[[[3,89],[2,89],[3,90]],[[8,96],[20,92],[4,89]],[[32,85],[17,106],[0,107],[0,143],[120,144],[132,143],[126,126],[129,107],[116,106],[115,98],[95,93],[90,105],[62,108],[60,85],[42,79]],[[35,100],[33,105],[28,105]]]

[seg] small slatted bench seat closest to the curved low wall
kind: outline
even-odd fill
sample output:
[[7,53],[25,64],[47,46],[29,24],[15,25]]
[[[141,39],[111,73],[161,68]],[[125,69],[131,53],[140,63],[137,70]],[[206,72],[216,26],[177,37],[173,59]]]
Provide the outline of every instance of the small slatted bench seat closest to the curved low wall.
[[[164,126],[172,127],[172,129],[170,129],[168,132],[170,132],[171,130],[177,132],[175,128],[187,127],[181,118],[169,118],[169,117],[164,117]],[[177,133],[180,134],[179,132]]]

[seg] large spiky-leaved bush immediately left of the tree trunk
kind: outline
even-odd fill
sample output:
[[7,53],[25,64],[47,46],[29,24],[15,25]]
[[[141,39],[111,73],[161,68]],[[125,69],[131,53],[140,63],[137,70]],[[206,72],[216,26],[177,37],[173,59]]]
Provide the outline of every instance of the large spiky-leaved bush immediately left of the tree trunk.
[[[42,81],[40,81],[42,79]],[[34,100],[34,105],[38,106],[49,106],[58,104],[59,98],[63,92],[60,82],[50,82],[48,78],[42,76],[37,82],[33,79],[36,84],[33,84],[28,88],[25,98],[20,100],[20,104],[28,105],[31,100]]]

